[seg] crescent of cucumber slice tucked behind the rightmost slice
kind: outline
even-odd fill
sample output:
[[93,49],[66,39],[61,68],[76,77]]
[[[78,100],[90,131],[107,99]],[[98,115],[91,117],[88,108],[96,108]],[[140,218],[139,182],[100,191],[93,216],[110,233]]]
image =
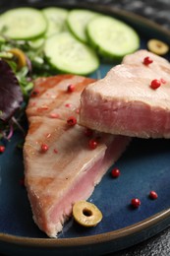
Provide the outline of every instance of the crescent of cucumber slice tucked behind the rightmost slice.
[[70,11],[67,24],[71,32],[81,41],[87,42],[88,38],[86,36],[86,25],[91,19],[99,16],[99,14],[87,11],[87,10],[73,10]]

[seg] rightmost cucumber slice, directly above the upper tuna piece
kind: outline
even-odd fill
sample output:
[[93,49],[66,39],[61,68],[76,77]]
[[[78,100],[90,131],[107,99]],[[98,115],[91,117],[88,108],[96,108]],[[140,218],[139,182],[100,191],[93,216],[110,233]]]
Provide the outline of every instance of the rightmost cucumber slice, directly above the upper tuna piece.
[[140,47],[140,37],[133,28],[112,17],[100,16],[87,25],[92,45],[104,57],[122,58]]

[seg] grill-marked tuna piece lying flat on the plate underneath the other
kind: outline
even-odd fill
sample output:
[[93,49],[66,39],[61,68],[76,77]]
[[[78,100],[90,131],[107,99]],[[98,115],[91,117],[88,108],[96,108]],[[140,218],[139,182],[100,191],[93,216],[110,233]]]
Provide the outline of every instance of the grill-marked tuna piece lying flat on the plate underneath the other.
[[[50,237],[57,236],[73,204],[91,195],[130,141],[76,124],[81,93],[91,82],[73,75],[38,79],[28,102],[25,182],[34,222]],[[91,139],[95,149],[88,146]]]

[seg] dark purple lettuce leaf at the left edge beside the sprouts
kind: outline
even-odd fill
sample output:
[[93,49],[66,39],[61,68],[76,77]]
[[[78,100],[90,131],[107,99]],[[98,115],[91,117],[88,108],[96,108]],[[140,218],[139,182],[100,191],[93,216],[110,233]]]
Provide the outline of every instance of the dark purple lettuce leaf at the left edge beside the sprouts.
[[0,120],[8,121],[21,106],[23,94],[10,65],[0,59]]

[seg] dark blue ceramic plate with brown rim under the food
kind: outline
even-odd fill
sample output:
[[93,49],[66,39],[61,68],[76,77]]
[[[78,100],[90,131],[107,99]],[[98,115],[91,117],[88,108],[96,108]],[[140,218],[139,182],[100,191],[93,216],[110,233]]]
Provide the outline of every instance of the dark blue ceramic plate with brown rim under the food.
[[[37,7],[37,6],[36,6]],[[42,7],[42,6],[39,6]],[[66,7],[66,6],[65,6]],[[69,5],[69,8],[75,8]],[[111,7],[85,6],[104,12],[132,25],[146,41],[159,38],[170,44],[170,32],[145,19]],[[166,56],[169,58],[169,56]],[[103,77],[111,68],[102,64]],[[96,77],[98,72],[92,77]],[[99,255],[126,248],[156,234],[170,224],[170,143],[169,140],[134,139],[127,152],[117,161],[121,176],[113,179],[110,169],[89,198],[103,213],[103,220],[92,228],[81,227],[70,220],[58,239],[51,239],[33,223],[27,191],[19,184],[24,176],[23,140],[16,132],[0,156],[0,252],[10,255]],[[148,197],[155,190],[157,200]],[[131,208],[138,197],[142,205]]]

